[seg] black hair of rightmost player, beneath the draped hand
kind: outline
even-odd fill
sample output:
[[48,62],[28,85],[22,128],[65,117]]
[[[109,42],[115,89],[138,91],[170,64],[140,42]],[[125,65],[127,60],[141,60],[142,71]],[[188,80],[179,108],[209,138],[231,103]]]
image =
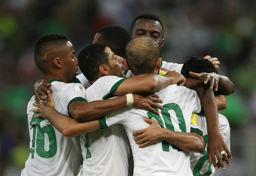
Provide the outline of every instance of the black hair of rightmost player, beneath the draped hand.
[[205,59],[203,57],[196,57],[192,56],[190,57],[182,66],[181,74],[186,78],[192,78],[191,75],[189,75],[189,72],[194,73],[216,73],[218,74],[218,70],[215,68],[214,64],[209,61],[208,59]]

